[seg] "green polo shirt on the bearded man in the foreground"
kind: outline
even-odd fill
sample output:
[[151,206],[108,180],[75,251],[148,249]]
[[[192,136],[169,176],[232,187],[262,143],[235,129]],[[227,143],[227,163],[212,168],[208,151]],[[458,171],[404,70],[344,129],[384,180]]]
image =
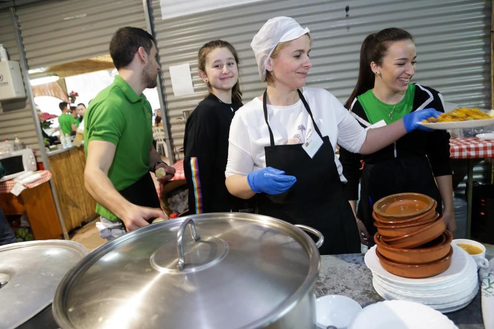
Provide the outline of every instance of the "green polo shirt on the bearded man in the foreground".
[[[84,114],[86,156],[91,141],[107,141],[117,146],[108,178],[118,191],[149,172],[153,142],[151,117],[151,105],[146,96],[138,96],[120,75],[99,92]],[[100,204],[96,205],[96,213],[117,219]]]

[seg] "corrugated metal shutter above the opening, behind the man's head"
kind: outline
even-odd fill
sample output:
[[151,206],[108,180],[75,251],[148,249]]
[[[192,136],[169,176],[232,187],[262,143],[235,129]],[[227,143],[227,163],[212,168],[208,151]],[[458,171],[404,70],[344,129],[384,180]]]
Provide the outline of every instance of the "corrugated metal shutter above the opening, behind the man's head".
[[109,53],[117,29],[146,29],[142,1],[45,1],[17,10],[29,69]]

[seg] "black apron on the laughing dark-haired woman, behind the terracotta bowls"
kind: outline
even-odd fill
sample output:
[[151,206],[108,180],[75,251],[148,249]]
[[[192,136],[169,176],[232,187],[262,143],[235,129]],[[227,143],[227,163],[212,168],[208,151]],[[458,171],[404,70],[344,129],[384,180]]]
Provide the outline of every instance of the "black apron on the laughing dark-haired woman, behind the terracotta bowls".
[[373,235],[377,232],[372,218],[374,202],[391,194],[405,192],[422,193],[434,198],[437,201],[436,210],[442,214],[441,194],[426,156],[398,157],[364,165],[357,216],[371,234],[371,245],[374,244]]

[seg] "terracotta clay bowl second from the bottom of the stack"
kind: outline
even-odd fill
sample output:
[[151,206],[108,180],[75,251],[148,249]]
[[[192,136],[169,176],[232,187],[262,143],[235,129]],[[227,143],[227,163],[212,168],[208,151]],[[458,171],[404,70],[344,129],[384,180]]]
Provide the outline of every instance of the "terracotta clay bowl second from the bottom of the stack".
[[374,235],[377,251],[391,261],[407,264],[425,264],[439,260],[450,252],[453,235],[445,230],[441,236],[418,248],[404,249],[388,245],[379,234]]

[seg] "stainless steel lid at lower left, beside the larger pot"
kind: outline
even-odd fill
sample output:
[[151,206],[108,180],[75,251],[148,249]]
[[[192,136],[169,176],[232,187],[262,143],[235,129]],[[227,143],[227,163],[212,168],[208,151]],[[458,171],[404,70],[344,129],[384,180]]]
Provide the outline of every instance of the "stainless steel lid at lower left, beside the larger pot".
[[80,243],[64,240],[0,247],[0,327],[16,328],[48,306],[64,275],[86,254]]

